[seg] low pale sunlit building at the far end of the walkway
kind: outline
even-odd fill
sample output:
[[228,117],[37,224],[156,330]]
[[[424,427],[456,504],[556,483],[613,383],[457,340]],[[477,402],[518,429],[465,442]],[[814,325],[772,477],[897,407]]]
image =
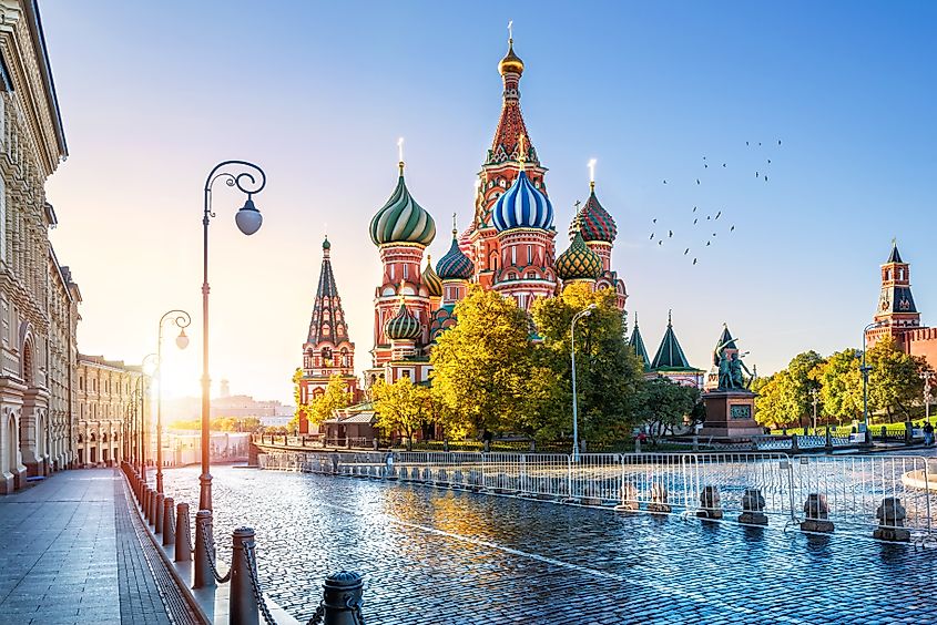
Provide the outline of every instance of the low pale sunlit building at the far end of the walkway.
[[149,386],[143,370],[121,360],[79,355],[75,377],[75,464],[120,462],[128,449],[130,423],[140,416],[134,391]]

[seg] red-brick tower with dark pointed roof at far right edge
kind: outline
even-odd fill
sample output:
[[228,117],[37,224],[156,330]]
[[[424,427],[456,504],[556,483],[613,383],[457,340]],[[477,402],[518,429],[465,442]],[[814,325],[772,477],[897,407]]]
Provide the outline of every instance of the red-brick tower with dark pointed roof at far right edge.
[[878,326],[866,330],[867,346],[870,348],[884,337],[890,337],[898,349],[926,358],[937,369],[937,328],[920,325],[920,312],[911,295],[910,265],[902,259],[897,243],[892,244],[880,276],[878,306],[873,318]]

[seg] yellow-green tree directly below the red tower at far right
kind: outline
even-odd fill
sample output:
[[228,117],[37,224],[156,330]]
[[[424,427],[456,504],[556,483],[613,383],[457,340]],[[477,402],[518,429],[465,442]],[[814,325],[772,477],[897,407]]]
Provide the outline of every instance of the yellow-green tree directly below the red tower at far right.
[[896,414],[910,419],[910,408],[924,393],[923,371],[929,370],[927,360],[905,354],[888,338],[879,340],[866,352],[868,376],[868,407],[884,411],[890,423]]

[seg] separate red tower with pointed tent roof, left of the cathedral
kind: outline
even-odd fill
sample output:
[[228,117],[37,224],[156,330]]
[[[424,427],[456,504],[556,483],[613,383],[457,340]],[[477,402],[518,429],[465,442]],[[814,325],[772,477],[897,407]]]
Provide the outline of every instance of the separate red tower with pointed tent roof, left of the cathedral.
[[[348,338],[348,324],[342,309],[342,297],[332,271],[332,243],[322,244],[322,269],[313,304],[309,331],[303,344],[303,377],[299,379],[299,401],[309,403],[325,392],[333,376],[339,376],[353,396],[358,395],[355,376],[355,344]],[[307,433],[308,422],[299,419],[299,432]]]

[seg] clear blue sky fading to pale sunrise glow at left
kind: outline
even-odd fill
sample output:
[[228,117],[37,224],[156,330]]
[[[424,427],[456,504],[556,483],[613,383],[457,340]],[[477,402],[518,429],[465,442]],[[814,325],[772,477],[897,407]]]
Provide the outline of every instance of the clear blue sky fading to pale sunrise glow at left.
[[[85,297],[83,351],[139,360],[164,310],[201,317],[201,186],[216,162],[246,158],[269,177],[265,224],[240,236],[241,199],[216,194],[213,377],[291,398],[326,224],[369,365],[367,225],[393,189],[396,140],[438,257],[449,215],[461,228],[471,214],[509,19],[557,227],[598,158],[613,265],[652,355],[669,308],[699,367],[723,321],[763,373],[857,346],[893,236],[937,322],[933,2],[45,0],[42,12],[71,150],[49,184],[53,240]],[[723,212],[711,232],[692,225],[694,205]],[[172,390],[195,392],[197,350],[172,358]]]

